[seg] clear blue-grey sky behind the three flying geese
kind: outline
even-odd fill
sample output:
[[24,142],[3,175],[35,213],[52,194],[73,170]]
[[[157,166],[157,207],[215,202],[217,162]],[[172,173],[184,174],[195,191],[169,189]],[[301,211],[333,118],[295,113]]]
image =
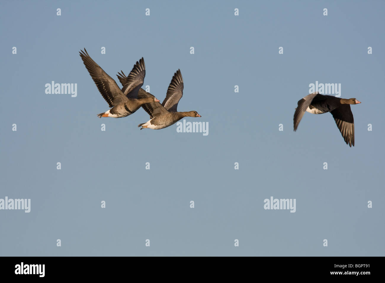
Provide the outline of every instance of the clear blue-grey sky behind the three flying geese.
[[[383,1],[0,6],[0,198],[31,199],[30,213],[0,210],[0,255],[385,255]],[[143,56],[161,101],[181,69],[178,110],[198,111],[186,121],[208,122],[208,136],[140,131],[143,109],[99,119],[109,107],[84,47],[117,82]],[[52,80],[77,83],[77,97],[45,94]],[[330,114],[305,113],[293,132],[316,81],[362,102],[351,107],[355,147]],[[296,212],[265,210],[271,196],[296,199]]]

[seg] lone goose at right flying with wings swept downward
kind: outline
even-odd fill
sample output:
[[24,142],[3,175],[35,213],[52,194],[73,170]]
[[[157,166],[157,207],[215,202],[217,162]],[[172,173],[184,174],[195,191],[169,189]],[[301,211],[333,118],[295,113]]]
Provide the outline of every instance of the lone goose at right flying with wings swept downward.
[[358,103],[361,102],[355,98],[344,99],[332,95],[322,95],[318,92],[306,95],[298,101],[298,107],[295,109],[294,131],[297,130],[305,111],[311,114],[330,112],[346,144],[352,147],[354,146],[354,119],[349,104]]

